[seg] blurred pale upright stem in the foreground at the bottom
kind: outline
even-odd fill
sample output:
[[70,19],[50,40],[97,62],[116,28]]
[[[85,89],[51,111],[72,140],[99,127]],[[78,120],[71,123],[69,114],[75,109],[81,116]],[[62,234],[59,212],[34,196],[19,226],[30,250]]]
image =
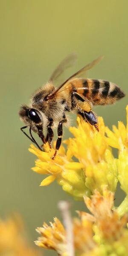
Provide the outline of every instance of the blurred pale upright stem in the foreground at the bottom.
[[74,239],[73,239],[73,223],[70,214],[70,204],[66,201],[60,201],[58,207],[61,211],[64,226],[66,229],[66,238],[67,238],[67,253],[68,256],[74,256]]

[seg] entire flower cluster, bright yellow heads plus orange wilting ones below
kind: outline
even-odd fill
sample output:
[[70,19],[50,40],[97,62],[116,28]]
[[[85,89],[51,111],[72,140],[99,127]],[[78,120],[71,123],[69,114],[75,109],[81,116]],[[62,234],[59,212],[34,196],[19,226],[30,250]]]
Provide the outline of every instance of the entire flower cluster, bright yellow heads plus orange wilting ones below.
[[[73,248],[69,253],[67,227],[55,218],[54,223],[37,229],[40,237],[35,243],[43,248],[57,251],[59,256],[127,256],[128,255],[128,106],[127,125],[118,122],[112,131],[98,118],[99,132],[77,117],[78,127],[70,127],[73,138],[63,141],[55,160],[54,149],[44,146],[44,152],[31,145],[34,153],[33,171],[47,177],[41,186],[54,180],[77,200],[84,200],[91,214],[78,212],[72,220]],[[118,149],[114,157],[113,148]],[[114,206],[117,183],[126,196]],[[64,221],[65,222],[65,221]]]

